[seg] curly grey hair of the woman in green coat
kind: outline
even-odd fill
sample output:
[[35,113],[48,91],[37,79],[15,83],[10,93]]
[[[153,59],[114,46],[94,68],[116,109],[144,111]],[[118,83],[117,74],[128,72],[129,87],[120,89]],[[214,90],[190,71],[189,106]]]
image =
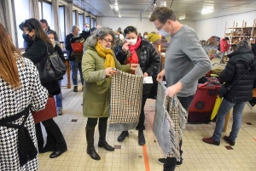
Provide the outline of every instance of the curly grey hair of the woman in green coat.
[[90,46],[96,46],[96,43],[98,42],[98,38],[103,39],[108,35],[111,35],[112,37],[114,37],[114,32],[113,30],[111,30],[111,28],[109,27],[98,28],[96,30],[96,34],[91,36]]

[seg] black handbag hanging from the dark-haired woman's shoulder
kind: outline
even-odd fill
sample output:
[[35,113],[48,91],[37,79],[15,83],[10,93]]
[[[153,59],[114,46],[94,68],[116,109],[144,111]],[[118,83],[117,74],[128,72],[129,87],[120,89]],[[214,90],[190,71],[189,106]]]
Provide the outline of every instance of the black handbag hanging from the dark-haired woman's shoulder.
[[46,43],[47,54],[35,66],[38,69],[41,83],[49,83],[59,79],[66,73],[66,66],[59,54],[49,54],[49,44]]

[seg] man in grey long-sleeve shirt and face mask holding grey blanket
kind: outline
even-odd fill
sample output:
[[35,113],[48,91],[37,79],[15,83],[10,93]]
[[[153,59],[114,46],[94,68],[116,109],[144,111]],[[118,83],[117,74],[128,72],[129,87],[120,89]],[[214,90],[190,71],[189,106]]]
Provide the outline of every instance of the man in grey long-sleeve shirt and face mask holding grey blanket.
[[[157,80],[162,81],[166,76],[166,95],[173,97],[177,94],[183,108],[188,111],[197,89],[197,80],[212,69],[211,62],[201,47],[195,31],[180,24],[172,9],[155,8],[149,20],[154,22],[162,36],[172,36],[166,51],[165,69],[160,72]],[[179,145],[182,155],[182,140]],[[177,161],[169,155],[166,159],[160,158],[158,162],[164,164],[164,171],[172,171],[176,165],[181,165],[183,160]]]

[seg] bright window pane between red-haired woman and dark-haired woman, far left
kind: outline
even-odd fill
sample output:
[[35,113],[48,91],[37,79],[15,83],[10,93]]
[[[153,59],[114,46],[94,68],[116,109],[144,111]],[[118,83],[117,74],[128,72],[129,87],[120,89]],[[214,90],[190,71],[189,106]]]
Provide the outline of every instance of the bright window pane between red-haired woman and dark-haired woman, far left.
[[[27,10],[24,10],[27,9]],[[15,17],[16,17],[16,26],[17,26],[17,39],[18,39],[18,47],[17,48],[24,48],[23,47],[23,31],[20,30],[20,23],[26,19],[30,18],[30,9],[29,7],[29,0],[15,0]]]

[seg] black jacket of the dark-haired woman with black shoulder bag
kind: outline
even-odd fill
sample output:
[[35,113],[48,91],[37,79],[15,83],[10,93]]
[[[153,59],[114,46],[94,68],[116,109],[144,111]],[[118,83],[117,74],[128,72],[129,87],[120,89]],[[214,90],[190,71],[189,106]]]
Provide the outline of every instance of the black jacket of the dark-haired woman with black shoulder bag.
[[[30,46],[26,48],[26,52],[22,54],[24,57],[32,60],[34,64],[37,64],[42,60],[47,54],[47,45],[42,40],[36,40],[34,43],[30,43]],[[51,46],[49,46],[51,47]],[[49,48],[49,53],[52,54],[54,49]],[[51,95],[56,95],[61,93],[61,88],[59,86],[58,80],[49,83],[42,83],[44,88],[47,88],[48,93]]]

